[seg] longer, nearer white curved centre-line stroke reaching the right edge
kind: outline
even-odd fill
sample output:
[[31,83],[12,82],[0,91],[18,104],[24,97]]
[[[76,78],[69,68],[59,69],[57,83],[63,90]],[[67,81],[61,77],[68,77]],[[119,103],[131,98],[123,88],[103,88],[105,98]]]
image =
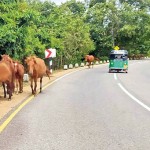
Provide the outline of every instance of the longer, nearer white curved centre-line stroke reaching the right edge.
[[137,98],[135,98],[132,94],[130,94],[120,83],[118,83],[119,87],[130,97],[132,98],[132,100],[134,100],[135,102],[137,102],[139,105],[141,105],[142,107],[144,107],[146,110],[150,111],[150,107],[148,107],[147,105],[145,105],[144,103],[142,103],[140,100],[138,100]]

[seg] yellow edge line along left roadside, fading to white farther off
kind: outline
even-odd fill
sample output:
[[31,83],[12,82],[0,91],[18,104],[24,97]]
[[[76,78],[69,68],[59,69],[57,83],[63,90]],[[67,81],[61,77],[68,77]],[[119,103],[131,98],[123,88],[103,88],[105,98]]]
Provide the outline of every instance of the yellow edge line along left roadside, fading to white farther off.
[[[61,77],[58,77],[57,79],[55,79],[54,81],[46,84],[45,86],[43,86],[43,90],[46,89],[48,86],[52,85],[53,83],[61,80],[62,78],[72,74],[72,73],[75,73],[77,71],[80,71],[80,70],[83,70],[83,69],[79,69],[79,70],[75,70],[75,71],[72,71],[70,73],[67,73]],[[37,91],[37,94],[39,93],[39,90]],[[27,98],[14,112],[12,112],[10,114],[10,116],[0,125],[0,133],[7,127],[7,125],[12,121],[12,119],[17,115],[17,113],[25,106],[27,105],[30,101],[32,101],[34,99],[34,95],[31,95],[29,98]]]

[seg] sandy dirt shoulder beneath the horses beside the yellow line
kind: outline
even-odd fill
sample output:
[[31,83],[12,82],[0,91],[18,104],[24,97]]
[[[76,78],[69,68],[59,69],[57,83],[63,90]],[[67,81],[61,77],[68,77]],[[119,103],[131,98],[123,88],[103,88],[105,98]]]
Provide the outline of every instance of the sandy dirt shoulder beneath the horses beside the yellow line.
[[[77,70],[82,70],[85,68],[87,68],[87,67],[85,66],[85,67],[73,68],[73,69],[68,69],[68,70],[54,71],[51,74],[50,80],[48,77],[43,78],[43,86],[55,81],[57,78],[65,75],[67,73],[77,71]],[[39,81],[38,81],[37,89],[39,89]],[[12,96],[12,100],[8,101],[8,96],[7,96],[7,98],[3,98],[4,97],[3,89],[2,89],[2,87],[0,87],[0,95],[1,95],[0,96],[0,120],[3,119],[8,113],[10,113],[17,106],[19,106],[25,99],[27,99],[31,95],[30,82],[24,82],[24,90],[23,91],[24,91],[23,93],[21,93],[21,94],[19,93],[18,95],[16,95],[14,93]]]

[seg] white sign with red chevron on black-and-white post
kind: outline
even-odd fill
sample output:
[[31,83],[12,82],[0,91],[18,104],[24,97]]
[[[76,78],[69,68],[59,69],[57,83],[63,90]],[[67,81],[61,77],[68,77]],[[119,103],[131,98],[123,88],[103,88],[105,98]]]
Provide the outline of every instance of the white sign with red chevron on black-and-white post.
[[52,58],[56,57],[56,49],[50,48],[45,50],[45,58],[49,59],[50,72],[52,73]]

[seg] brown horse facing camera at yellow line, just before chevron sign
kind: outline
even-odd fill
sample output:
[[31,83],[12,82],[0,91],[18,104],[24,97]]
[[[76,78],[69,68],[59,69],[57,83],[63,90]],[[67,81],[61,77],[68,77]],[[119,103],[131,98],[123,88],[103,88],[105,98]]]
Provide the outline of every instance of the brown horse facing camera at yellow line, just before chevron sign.
[[[38,78],[40,78],[40,92],[42,92],[42,79],[44,75],[47,73],[47,68],[44,60],[36,56],[27,57],[25,62],[27,64],[28,74],[30,76],[30,81],[31,81],[30,86],[31,86],[32,94],[35,95]],[[33,81],[34,81],[34,87],[33,87]]]

